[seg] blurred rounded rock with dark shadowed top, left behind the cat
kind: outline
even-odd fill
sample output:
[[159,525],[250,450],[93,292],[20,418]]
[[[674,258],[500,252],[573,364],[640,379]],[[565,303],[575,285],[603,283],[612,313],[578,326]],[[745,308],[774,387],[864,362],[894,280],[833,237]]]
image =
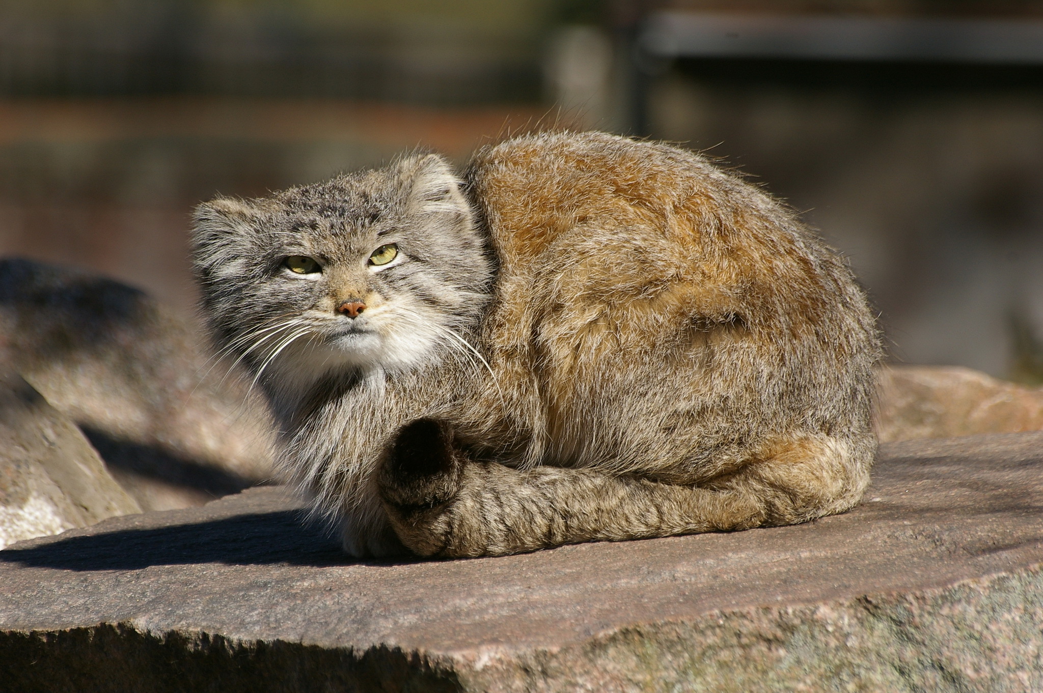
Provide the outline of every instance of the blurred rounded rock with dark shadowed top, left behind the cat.
[[270,475],[260,398],[143,292],[0,259],[0,336],[14,368],[82,429],[143,509],[201,505]]

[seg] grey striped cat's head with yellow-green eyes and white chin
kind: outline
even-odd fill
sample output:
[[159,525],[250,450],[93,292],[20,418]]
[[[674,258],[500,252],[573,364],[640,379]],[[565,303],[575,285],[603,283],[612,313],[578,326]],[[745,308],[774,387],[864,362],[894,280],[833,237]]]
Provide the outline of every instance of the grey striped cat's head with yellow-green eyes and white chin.
[[194,221],[211,329],[265,370],[269,392],[338,369],[437,362],[488,300],[488,250],[435,154],[264,199],[219,198]]

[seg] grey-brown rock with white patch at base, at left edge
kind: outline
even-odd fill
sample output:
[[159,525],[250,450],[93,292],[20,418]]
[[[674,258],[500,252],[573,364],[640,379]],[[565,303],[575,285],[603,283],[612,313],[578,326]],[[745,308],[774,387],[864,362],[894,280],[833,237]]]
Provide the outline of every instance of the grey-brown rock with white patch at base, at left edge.
[[0,548],[140,512],[75,424],[0,371]]

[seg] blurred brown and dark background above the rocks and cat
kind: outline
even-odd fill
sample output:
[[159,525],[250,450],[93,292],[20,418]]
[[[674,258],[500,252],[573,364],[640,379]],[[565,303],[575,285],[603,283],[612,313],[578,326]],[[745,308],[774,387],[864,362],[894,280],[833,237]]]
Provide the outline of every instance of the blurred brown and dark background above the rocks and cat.
[[1039,0],[0,0],[0,253],[190,315],[196,202],[555,124],[786,199],[893,360],[1043,382]]

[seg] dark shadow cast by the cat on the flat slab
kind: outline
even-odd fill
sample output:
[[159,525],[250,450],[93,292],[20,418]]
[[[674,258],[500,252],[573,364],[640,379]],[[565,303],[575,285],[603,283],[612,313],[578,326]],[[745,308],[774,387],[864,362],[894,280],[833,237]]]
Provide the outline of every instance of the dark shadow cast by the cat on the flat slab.
[[296,510],[238,515],[191,524],[48,538],[0,551],[0,562],[60,570],[140,570],[149,566],[222,563],[326,567],[373,563],[353,559],[336,539]]

